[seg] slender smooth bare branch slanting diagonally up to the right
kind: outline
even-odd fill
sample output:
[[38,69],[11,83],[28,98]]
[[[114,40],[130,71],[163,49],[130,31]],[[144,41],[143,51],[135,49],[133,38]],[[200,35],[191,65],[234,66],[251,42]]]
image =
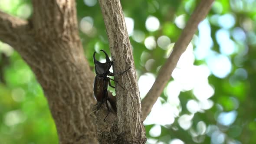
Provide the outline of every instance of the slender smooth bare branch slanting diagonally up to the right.
[[146,97],[141,101],[143,120],[146,119],[150,113],[154,103],[164,90],[165,85],[171,78],[171,73],[177,65],[181,54],[186,50],[190,43],[194,33],[197,30],[197,26],[202,21],[210,10],[211,4],[214,0],[201,0],[194,13],[190,16],[190,20],[187,22],[186,27],[183,29],[180,38],[175,43],[171,55],[161,67],[158,77],[155,80],[152,88],[149,90]]

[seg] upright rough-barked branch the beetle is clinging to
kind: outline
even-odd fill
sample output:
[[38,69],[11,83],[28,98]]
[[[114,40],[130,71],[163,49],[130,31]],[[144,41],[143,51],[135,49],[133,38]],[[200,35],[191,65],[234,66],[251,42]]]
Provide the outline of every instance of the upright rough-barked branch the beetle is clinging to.
[[131,70],[122,75],[115,75],[117,95],[117,131],[118,143],[144,144],[145,129],[142,121],[141,102],[136,80],[136,71],[132,49],[126,29],[125,19],[119,0],[99,0],[108,34],[109,47],[114,72],[121,72],[131,66]]

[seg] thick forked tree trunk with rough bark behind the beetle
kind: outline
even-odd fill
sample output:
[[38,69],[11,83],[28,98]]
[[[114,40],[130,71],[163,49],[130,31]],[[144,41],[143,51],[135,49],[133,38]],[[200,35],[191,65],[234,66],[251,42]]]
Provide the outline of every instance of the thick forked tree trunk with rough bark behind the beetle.
[[83,54],[74,0],[33,0],[30,22],[0,13],[0,40],[36,75],[61,144],[97,143],[90,105],[93,72]]

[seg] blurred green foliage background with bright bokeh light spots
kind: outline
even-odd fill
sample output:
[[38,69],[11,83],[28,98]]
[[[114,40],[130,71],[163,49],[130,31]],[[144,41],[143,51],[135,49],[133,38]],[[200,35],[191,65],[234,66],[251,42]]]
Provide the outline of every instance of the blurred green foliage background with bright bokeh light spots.
[[[125,16],[130,18],[127,27],[133,30],[130,40],[139,86],[142,75],[155,77],[158,74],[184,23],[199,2],[200,0],[121,1]],[[174,78],[170,79],[159,98],[160,108],[163,109],[157,112],[164,116],[171,115],[171,111],[177,112],[170,118],[163,117],[163,120],[170,120],[164,124],[145,122],[148,144],[256,143],[256,89],[253,86],[256,85],[255,7],[256,0],[216,0],[207,19],[199,26],[199,33],[192,40],[192,60],[182,58],[185,64],[192,62],[192,70],[201,68],[200,66],[206,66],[207,70],[195,78],[194,71],[190,70],[178,77],[173,74]],[[1,0],[0,10],[24,19],[28,19],[33,13],[30,0]],[[105,49],[110,53],[97,0],[77,0],[77,15],[85,56],[93,67],[94,51]],[[148,27],[146,21],[150,17],[151,25]],[[202,28],[203,26],[205,27]],[[207,37],[210,38],[209,45],[206,44]],[[200,49],[200,44],[203,49]],[[200,58],[200,52],[205,52],[205,56]],[[97,56],[103,59],[102,55]],[[184,57],[186,56],[190,55]],[[225,62],[230,62],[230,65],[225,66]],[[177,66],[176,70],[178,69]],[[173,88],[172,84],[180,84],[182,87],[187,83],[197,83],[207,71],[210,73],[206,76],[205,88],[200,87],[199,91],[196,91],[197,85],[181,90],[170,89]],[[180,74],[179,71],[175,73]],[[182,84],[178,78],[187,81]],[[144,81],[147,83],[149,79]],[[140,86],[142,98],[143,89],[147,92],[149,88],[148,85]],[[179,95],[176,101],[172,98],[173,94],[170,94],[173,91],[177,91]],[[198,95],[209,95],[203,99],[204,102],[209,102],[208,106],[211,102],[212,105],[204,109],[200,107],[204,103]],[[196,107],[199,108],[195,110]],[[148,118],[146,121],[154,122],[156,118]],[[174,120],[171,121],[171,118]],[[0,144],[46,143],[57,144],[58,138],[42,89],[19,54],[7,44],[0,43]]]

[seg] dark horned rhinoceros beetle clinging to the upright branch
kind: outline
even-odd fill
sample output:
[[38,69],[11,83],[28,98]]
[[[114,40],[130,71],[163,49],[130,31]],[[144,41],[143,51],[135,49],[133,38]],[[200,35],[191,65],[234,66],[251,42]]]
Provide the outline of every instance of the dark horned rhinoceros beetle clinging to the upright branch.
[[[109,110],[107,101],[109,101],[110,105],[112,106],[112,108],[115,111],[116,111],[116,106],[112,100],[113,98],[108,97],[108,85],[112,88],[115,88],[114,86],[111,85],[110,80],[112,80],[112,81],[115,81],[115,80],[109,78],[108,76],[114,76],[115,74],[122,74],[123,72],[127,72],[129,69],[131,69],[131,67],[123,72],[118,72],[118,73],[110,72],[109,69],[113,65],[115,59],[113,59],[113,61],[111,61],[108,57],[108,54],[103,49],[100,51],[105,53],[106,62],[101,63],[98,60],[96,60],[95,59],[96,52],[93,53],[93,60],[94,60],[95,73],[96,73],[96,76],[94,79],[93,93],[94,93],[96,100],[98,101],[98,109],[101,107],[101,105],[103,103],[105,103],[108,108],[108,114],[109,114],[110,110]],[[117,82],[117,81],[115,81],[115,82]],[[118,83],[118,85],[120,85],[120,84]],[[123,88],[123,87],[121,86],[121,88]],[[108,117],[108,114],[104,118],[104,121]]]

